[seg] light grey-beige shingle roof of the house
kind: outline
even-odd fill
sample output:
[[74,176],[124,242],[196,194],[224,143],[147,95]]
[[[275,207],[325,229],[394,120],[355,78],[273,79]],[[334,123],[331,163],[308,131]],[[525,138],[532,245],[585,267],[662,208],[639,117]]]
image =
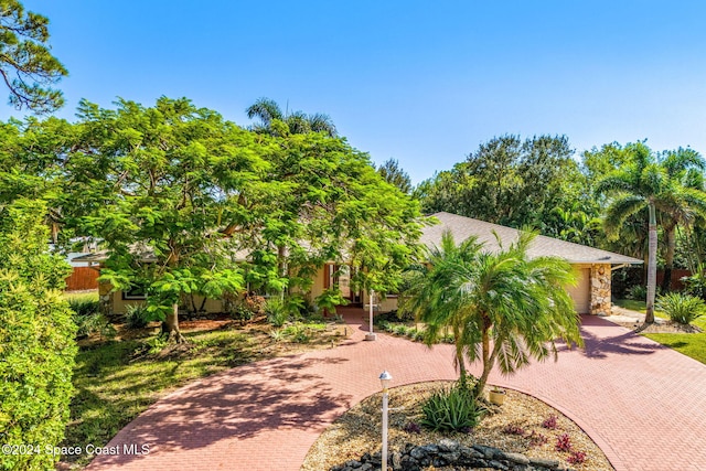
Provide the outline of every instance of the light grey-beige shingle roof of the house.
[[[485,244],[490,251],[500,249],[493,231],[500,236],[503,245],[517,239],[520,231],[512,227],[486,223],[471,217],[459,216],[451,213],[436,213],[431,215],[440,224],[428,226],[422,229],[421,243],[427,247],[440,246],[441,235],[445,231],[451,231],[457,243],[466,240],[470,236],[477,236],[478,240]],[[613,251],[601,250],[580,244],[574,244],[558,238],[537,236],[530,246],[527,254],[531,257],[557,256],[571,264],[642,264],[639,258],[628,257]]]

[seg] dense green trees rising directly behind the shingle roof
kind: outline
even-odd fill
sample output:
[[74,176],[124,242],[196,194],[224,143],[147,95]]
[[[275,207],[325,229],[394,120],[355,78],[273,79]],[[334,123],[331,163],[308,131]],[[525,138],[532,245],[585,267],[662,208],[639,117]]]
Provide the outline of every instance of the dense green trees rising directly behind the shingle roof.
[[556,207],[576,201],[592,217],[586,181],[565,136],[524,141],[501,136],[482,143],[464,162],[424,182],[416,194],[425,212],[447,211],[512,227],[533,226],[558,235]]

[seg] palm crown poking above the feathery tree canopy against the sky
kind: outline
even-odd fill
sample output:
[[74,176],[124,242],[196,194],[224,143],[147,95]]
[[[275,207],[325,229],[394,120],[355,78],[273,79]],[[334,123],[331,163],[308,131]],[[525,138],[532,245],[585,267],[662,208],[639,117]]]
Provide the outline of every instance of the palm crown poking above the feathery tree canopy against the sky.
[[260,120],[260,122],[253,126],[253,130],[256,132],[278,135],[276,121],[281,121],[287,125],[289,132],[292,135],[324,132],[330,137],[338,136],[335,126],[329,115],[320,113],[307,115],[302,111],[285,114],[277,101],[270,98],[259,98],[245,113],[247,113],[248,118],[258,118]]

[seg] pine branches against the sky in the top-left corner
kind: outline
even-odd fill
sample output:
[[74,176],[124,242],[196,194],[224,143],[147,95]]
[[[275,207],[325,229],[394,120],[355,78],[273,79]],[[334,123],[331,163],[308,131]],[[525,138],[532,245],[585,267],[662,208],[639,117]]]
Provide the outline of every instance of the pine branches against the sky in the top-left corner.
[[49,20],[18,0],[0,0],[0,77],[18,109],[47,113],[64,103],[51,86],[68,73],[50,53]]

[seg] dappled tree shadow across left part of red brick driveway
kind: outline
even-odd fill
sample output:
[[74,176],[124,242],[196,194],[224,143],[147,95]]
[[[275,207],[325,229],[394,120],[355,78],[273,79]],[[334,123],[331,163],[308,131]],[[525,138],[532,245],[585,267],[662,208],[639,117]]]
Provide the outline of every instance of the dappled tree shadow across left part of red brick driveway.
[[[220,440],[243,440],[268,430],[310,430],[328,425],[353,399],[333,393],[325,379],[327,370],[335,370],[344,361],[276,358],[207,377],[154,404],[109,446],[122,449],[122,445],[146,443],[163,453],[205,448]],[[100,456],[97,461],[110,465],[138,458]]]

